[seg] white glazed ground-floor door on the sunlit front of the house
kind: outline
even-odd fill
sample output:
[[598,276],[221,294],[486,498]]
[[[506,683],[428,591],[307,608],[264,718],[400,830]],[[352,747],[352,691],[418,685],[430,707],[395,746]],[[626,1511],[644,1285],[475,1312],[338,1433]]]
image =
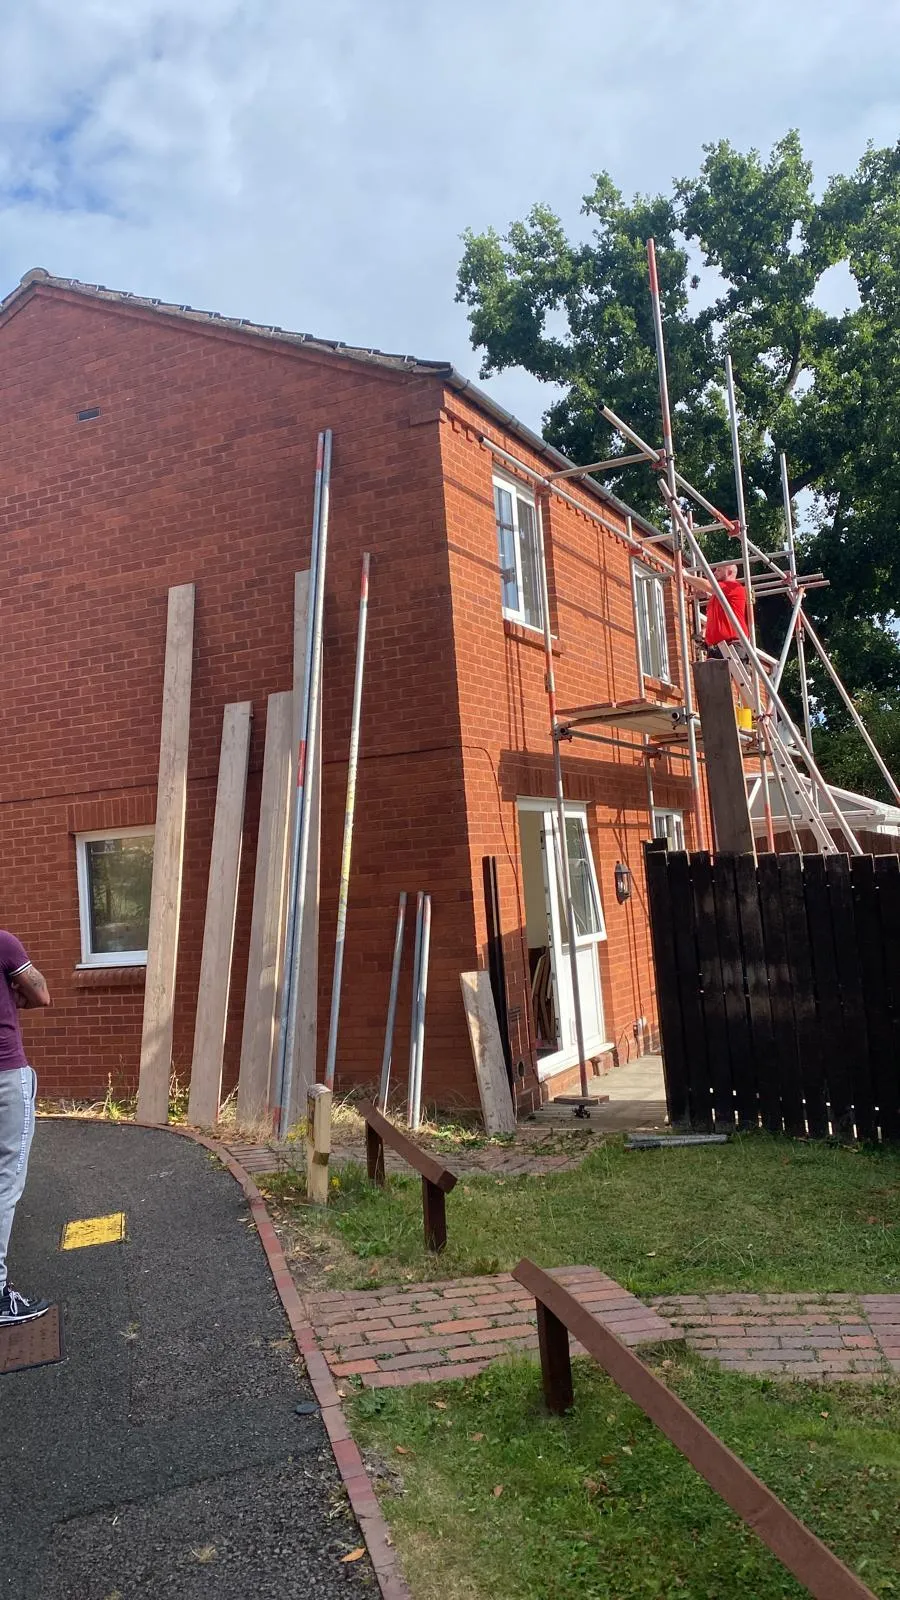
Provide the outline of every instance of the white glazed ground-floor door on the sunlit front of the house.
[[[588,1054],[605,1045],[604,998],[601,989],[599,944],[605,939],[604,912],[588,819],[583,806],[565,806],[565,845],[575,909],[575,958],[578,971],[578,997],[581,1002],[581,1027]],[[578,1034],[575,1027],[575,995],[572,989],[572,965],[569,957],[569,918],[562,888],[562,850],[556,808],[541,806],[541,864],[544,874],[548,944],[556,1014],[559,1019],[559,1048],[540,1061],[540,1075],[548,1077],[572,1066],[578,1059]]]

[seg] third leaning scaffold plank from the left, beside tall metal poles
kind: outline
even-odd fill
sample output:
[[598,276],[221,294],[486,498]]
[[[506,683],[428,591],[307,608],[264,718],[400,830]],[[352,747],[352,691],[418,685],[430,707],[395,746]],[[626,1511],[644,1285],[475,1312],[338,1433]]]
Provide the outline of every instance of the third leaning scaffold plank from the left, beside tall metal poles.
[[293,694],[269,694],[266,710],[266,750],[263,755],[263,792],[259,797],[259,838],[256,845],[256,878],[253,883],[253,917],[250,923],[250,958],[247,962],[247,997],[243,1002],[243,1035],[240,1040],[240,1074],[237,1080],[237,1120],[255,1123],[272,1104],[272,1064],[279,1029],[279,994],[283,955],[283,906],[288,845],[288,810],[291,790],[291,714]]

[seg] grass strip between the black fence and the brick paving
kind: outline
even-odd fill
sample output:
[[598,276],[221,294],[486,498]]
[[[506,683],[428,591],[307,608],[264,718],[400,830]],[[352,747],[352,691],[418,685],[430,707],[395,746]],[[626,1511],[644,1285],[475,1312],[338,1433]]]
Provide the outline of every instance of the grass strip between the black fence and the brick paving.
[[[452,1155],[447,1157],[453,1165]],[[295,1178],[264,1181],[330,1283],[372,1286],[589,1264],[644,1298],[697,1290],[900,1291],[900,1152],[765,1134],[727,1146],[626,1152],[610,1139],[575,1171],[464,1178],[447,1198],[448,1248],[423,1248],[421,1184],[386,1190],[344,1170],[327,1219]]]

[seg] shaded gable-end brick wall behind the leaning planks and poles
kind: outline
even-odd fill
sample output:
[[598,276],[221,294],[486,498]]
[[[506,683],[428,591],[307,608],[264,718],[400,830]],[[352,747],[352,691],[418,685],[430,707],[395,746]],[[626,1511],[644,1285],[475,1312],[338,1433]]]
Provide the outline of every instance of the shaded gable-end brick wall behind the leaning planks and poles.
[[[29,1018],[48,1093],[135,1083],[141,973],[80,960],[74,834],[154,814],[170,584],[197,584],[175,1066],[189,1070],[218,744],[255,710],[226,1083],[240,1043],[266,696],[290,686],[293,573],[309,562],[315,438],[335,432],[325,603],[322,1035],[352,693],[359,558],[373,552],[341,1078],[381,1059],[397,894],[434,894],[432,1085],[460,1093],[472,962],[437,406],[428,378],[167,322],[40,285],[0,330],[6,662],[0,918],[46,971]],[[101,408],[94,421],[75,413]],[[421,418],[431,421],[423,422]],[[408,1040],[412,930],[397,1016]],[[444,1072],[444,1062],[447,1070]]]

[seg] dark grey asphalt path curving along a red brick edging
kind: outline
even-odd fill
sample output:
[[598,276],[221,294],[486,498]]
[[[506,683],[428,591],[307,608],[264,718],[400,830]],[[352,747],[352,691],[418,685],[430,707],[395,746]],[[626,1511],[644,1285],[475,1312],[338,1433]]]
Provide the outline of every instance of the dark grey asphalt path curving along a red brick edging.
[[[59,1250],[125,1211],[127,1240]],[[38,1122],[10,1278],[64,1309],[66,1360],[0,1376],[0,1597],[376,1594],[248,1208],[215,1157]]]

